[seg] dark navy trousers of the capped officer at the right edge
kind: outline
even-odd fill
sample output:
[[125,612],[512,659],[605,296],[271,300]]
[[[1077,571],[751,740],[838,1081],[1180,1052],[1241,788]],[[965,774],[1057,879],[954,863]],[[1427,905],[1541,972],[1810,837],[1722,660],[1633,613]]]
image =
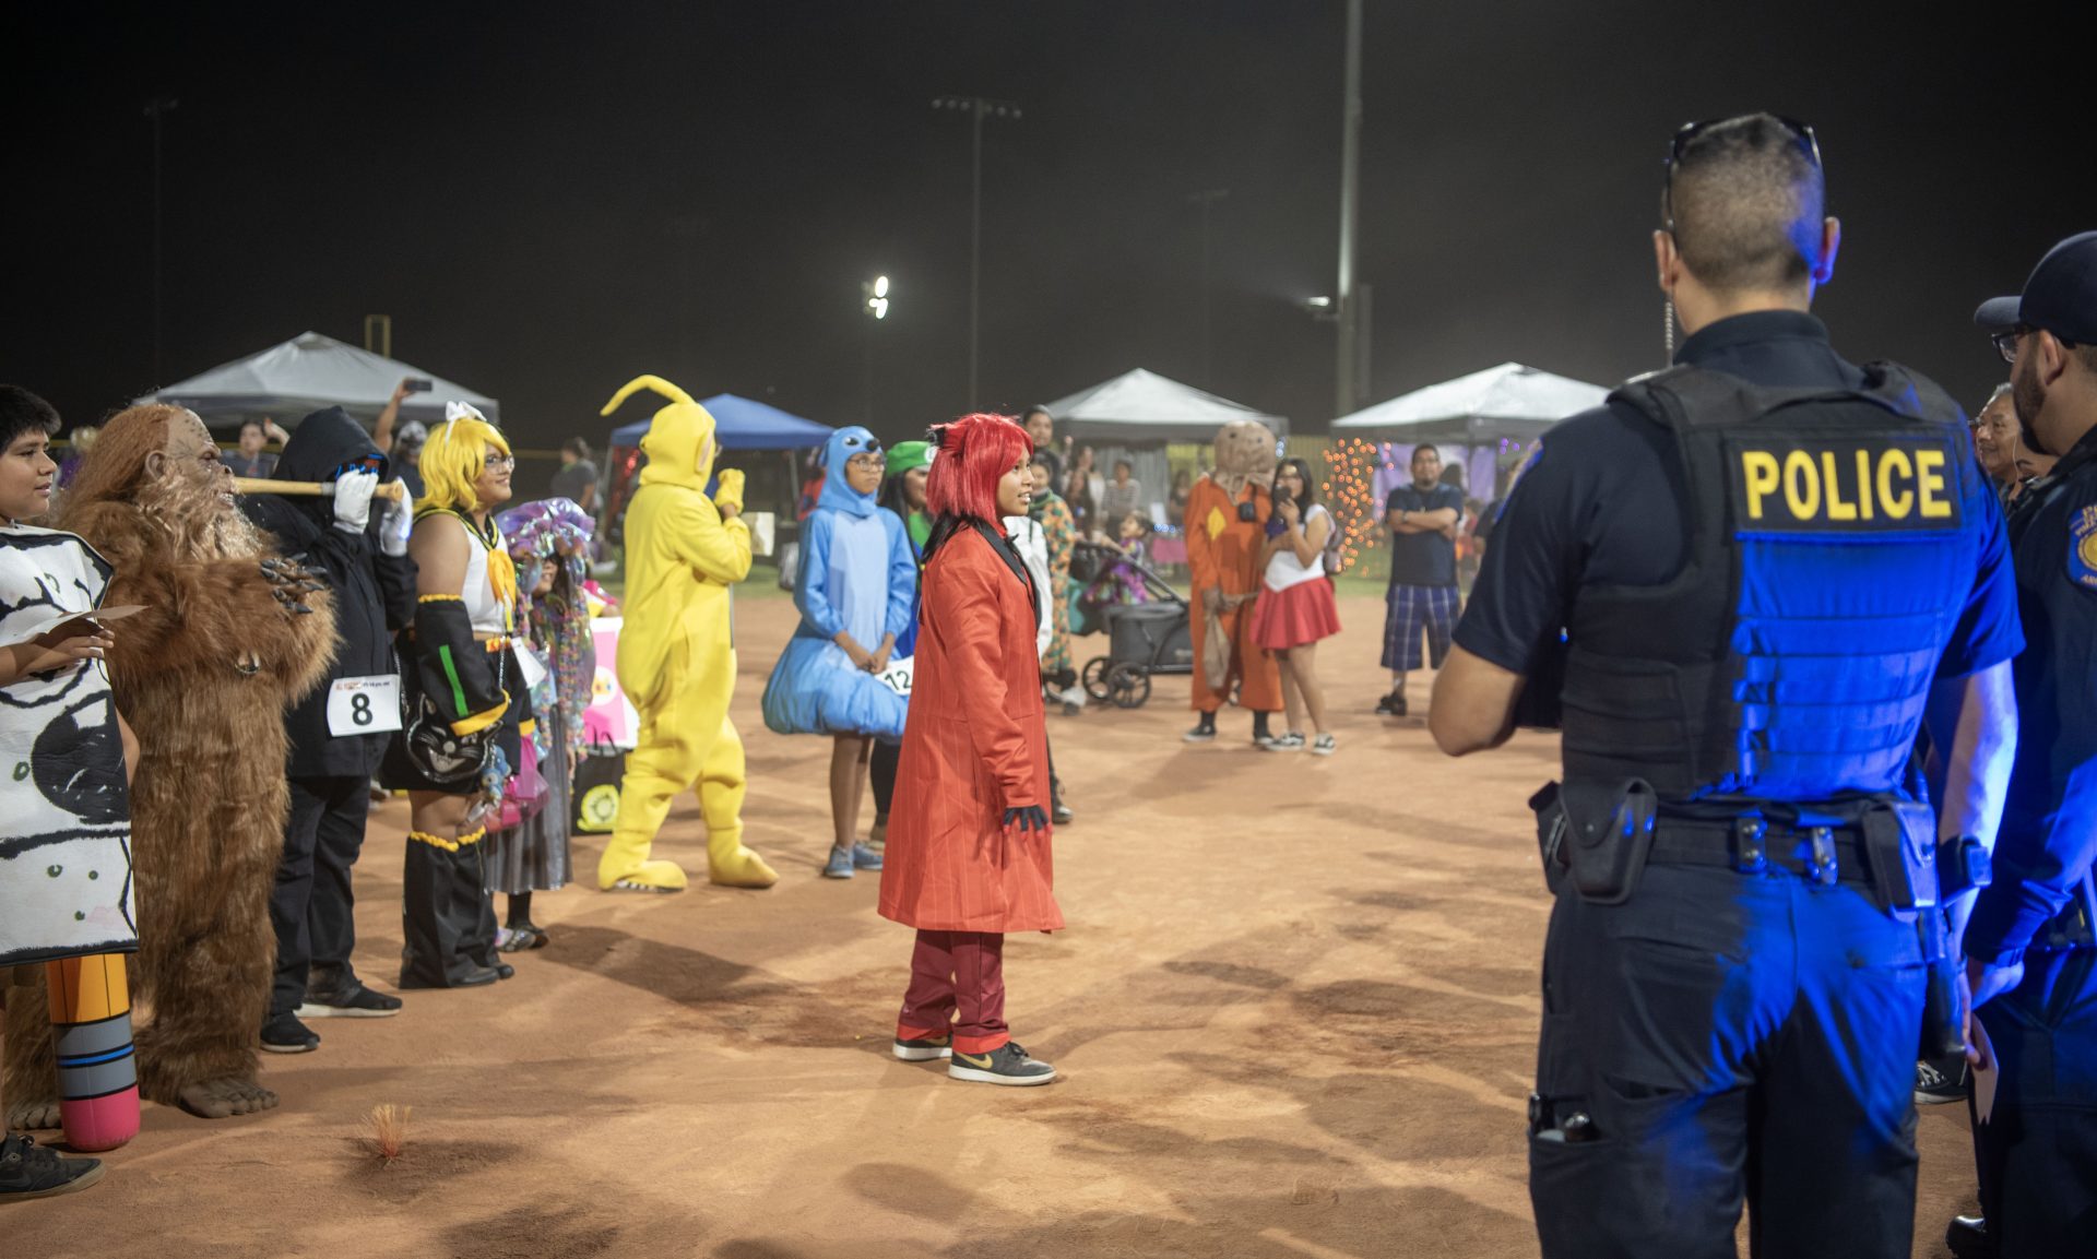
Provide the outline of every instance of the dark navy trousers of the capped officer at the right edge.
[[[2003,1259],[2097,1255],[2097,949],[2028,949],[1980,1008],[2003,1075],[1973,1125],[1980,1205]],[[1975,1108],[1980,1098],[1975,1096]]]

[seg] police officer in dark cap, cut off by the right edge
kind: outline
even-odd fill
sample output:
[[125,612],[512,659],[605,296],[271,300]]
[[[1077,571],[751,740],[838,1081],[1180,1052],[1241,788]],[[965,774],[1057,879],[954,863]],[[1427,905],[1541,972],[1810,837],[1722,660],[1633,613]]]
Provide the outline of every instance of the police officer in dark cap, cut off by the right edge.
[[2011,362],[2024,442],[2059,457],[2009,513],[2024,729],[1994,884],[1965,932],[2001,1066],[1973,1146],[1998,1253],[2082,1257],[2097,1251],[2097,233],[1973,318]]

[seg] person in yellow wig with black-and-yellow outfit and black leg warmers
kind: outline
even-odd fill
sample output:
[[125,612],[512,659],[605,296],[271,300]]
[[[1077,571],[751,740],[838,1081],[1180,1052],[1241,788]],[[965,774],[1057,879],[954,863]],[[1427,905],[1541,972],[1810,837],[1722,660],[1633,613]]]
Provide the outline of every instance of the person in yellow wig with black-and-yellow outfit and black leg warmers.
[[421,450],[415,503],[415,626],[403,643],[409,723],[384,781],[409,794],[401,884],[401,987],[468,989],[510,978],[495,955],[489,834],[520,756],[518,576],[493,511],[510,499],[510,442],[463,402]]

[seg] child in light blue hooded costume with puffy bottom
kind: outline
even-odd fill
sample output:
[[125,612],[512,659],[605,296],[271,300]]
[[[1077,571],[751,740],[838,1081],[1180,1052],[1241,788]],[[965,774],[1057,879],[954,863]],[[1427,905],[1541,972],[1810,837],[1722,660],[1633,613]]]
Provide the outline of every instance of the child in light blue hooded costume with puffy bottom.
[[900,739],[908,702],[881,681],[912,624],[916,557],[904,522],[874,505],[885,459],[862,427],[830,434],[816,511],[801,526],[801,610],[765,683],[765,725],[782,735],[830,735],[830,859],[824,878],[881,869],[858,842],[872,739]]

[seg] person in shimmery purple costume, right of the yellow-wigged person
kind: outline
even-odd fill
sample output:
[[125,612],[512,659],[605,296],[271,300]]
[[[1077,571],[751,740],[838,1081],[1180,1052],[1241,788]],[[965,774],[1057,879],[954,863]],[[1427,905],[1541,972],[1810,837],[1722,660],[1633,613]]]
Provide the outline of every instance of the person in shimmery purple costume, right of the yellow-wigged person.
[[[533,654],[533,729],[524,742],[537,763],[543,792],[510,830],[489,836],[489,890],[507,897],[501,951],[541,949],[545,930],[531,920],[533,892],[568,882],[568,783],[583,750],[583,710],[598,677],[598,649],[589,633],[589,513],[568,499],[512,507],[495,517],[518,564],[518,587],[531,580],[524,601],[524,651]],[[522,746],[520,746],[522,748]]]

